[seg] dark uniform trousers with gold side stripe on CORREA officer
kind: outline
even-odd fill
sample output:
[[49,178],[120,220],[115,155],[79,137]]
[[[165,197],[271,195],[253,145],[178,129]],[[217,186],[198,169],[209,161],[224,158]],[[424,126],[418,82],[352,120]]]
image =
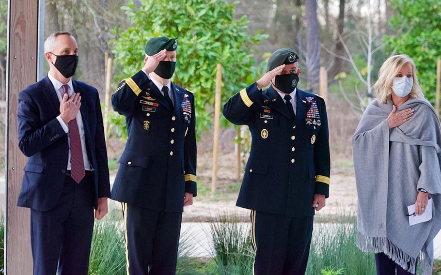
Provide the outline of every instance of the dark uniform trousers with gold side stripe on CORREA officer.
[[313,221],[313,216],[287,217],[252,210],[254,274],[305,274]]

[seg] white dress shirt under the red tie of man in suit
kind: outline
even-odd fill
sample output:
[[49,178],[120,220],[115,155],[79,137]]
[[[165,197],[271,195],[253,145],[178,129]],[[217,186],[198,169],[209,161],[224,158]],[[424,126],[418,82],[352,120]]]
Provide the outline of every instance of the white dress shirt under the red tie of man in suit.
[[[61,101],[63,100],[63,83],[58,81],[57,79],[55,79],[55,77],[53,77],[49,73],[47,73],[47,77],[49,77],[50,82],[52,82],[52,85],[54,86],[55,92],[57,94],[58,100]],[[68,89],[68,94],[69,97],[74,93],[74,86],[72,85],[72,77],[69,79],[69,82],[66,83],[67,86],[69,86]],[[65,133],[67,133],[67,145],[69,146],[69,158],[67,161],[67,170],[71,169],[71,165],[70,165],[70,137],[69,137],[69,126],[67,126],[66,123],[63,122],[63,120],[61,119],[60,116],[57,117],[57,120],[60,122],[61,127],[63,127],[63,130]],[[87,150],[86,150],[86,139],[85,139],[85,135],[84,135],[84,125],[83,125],[83,120],[81,118],[81,112],[78,112],[77,114],[77,124],[78,124],[78,130],[79,130],[79,137],[81,139],[81,150],[83,152],[83,160],[84,160],[84,169],[86,170],[92,170],[91,166],[90,166],[90,162],[89,162],[89,158],[87,157]]]

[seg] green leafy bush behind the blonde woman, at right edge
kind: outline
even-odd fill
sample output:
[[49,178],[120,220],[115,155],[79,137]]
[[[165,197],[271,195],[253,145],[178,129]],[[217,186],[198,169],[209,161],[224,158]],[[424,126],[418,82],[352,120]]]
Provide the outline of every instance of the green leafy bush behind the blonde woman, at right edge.
[[[407,54],[415,61],[421,89],[435,103],[436,63],[441,58],[441,1],[393,0],[396,16],[390,20],[395,31],[403,33],[388,45],[390,52]],[[388,40],[389,37],[385,37]]]

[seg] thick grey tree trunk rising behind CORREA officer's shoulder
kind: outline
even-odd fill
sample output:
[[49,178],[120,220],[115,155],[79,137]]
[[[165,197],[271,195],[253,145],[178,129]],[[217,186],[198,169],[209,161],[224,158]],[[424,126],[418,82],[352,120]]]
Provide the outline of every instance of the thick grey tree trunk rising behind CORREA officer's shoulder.
[[306,6],[306,66],[308,86],[316,85],[320,75],[320,43],[318,42],[317,1],[305,1]]

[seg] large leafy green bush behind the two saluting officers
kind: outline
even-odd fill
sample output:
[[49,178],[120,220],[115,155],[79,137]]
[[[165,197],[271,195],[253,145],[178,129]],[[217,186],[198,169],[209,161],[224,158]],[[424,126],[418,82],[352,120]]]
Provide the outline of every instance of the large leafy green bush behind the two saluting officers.
[[[246,16],[234,18],[236,2],[227,0],[140,0],[129,1],[122,9],[131,27],[114,30],[115,62],[123,65],[116,72],[122,80],[143,66],[144,46],[156,36],[179,38],[173,83],[194,92],[199,131],[211,126],[215,100],[216,66],[222,64],[222,102],[255,81],[254,46],[267,35],[248,34]],[[260,74],[260,72],[259,72]],[[111,115],[118,135],[126,132],[123,117]],[[222,120],[226,124],[225,120]],[[119,130],[118,130],[119,129]]]

